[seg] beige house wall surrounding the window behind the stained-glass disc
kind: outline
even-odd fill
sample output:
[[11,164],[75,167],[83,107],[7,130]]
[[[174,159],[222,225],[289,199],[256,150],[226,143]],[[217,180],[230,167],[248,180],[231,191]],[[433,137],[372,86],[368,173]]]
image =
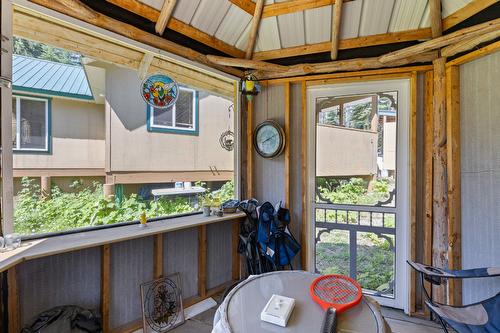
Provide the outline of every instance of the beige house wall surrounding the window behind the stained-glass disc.
[[[126,85],[120,84],[126,82]],[[137,72],[110,66],[106,71],[106,103],[110,133],[108,172],[232,171],[233,152],[219,145],[228,129],[231,101],[218,96],[199,98],[199,135],[148,132],[146,104]],[[234,119],[234,114],[231,119]],[[232,128],[231,121],[231,128]]]

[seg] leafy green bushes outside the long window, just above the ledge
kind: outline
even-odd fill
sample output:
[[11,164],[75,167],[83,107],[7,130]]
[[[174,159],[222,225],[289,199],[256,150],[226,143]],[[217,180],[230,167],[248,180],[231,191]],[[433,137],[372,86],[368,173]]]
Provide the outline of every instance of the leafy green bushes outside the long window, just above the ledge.
[[[17,195],[14,213],[15,231],[21,234],[37,234],[64,231],[86,226],[113,224],[139,220],[144,212],[148,218],[187,213],[194,210],[186,198],[147,201],[137,194],[123,196],[117,203],[104,198],[102,184],[84,187],[82,181],[74,181],[71,193],[52,186],[50,199],[41,199],[40,185],[35,179],[24,177]],[[204,184],[202,184],[204,185]],[[208,191],[223,202],[234,196],[234,183],[225,183],[220,190]]]

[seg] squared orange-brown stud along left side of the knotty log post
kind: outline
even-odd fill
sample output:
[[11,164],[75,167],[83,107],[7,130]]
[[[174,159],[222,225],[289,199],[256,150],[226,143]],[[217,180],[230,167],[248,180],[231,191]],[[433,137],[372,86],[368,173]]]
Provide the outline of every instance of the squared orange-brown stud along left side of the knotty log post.
[[[432,153],[433,153],[433,95],[434,75],[432,71],[425,73],[425,110],[424,110],[424,171],[423,171],[423,263],[432,265]],[[431,289],[429,282],[424,282],[426,290]],[[424,314],[429,314],[429,308],[422,303]]]

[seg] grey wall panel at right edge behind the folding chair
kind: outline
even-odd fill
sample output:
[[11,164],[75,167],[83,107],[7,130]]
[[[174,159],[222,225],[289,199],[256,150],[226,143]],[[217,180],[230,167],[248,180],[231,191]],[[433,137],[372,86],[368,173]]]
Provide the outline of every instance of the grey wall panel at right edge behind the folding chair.
[[[500,266],[500,52],[460,66],[462,265]],[[463,302],[493,296],[500,278],[466,279]]]

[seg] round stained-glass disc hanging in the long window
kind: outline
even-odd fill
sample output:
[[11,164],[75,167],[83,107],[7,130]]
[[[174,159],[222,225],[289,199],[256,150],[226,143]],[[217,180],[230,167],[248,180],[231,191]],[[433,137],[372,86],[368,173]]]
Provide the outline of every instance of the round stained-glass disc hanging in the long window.
[[166,109],[177,101],[179,86],[167,75],[153,74],[142,81],[141,96],[152,107]]

